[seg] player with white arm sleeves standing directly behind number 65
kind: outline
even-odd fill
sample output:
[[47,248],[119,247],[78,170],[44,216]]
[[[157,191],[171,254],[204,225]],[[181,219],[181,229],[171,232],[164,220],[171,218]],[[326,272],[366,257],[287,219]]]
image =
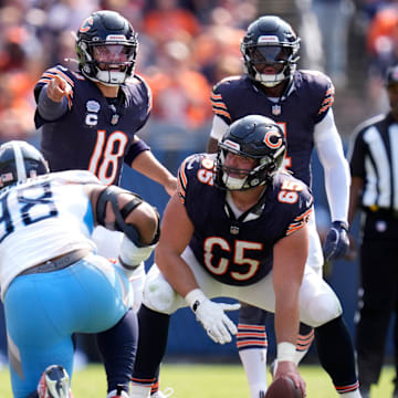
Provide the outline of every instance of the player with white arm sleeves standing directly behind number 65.
[[[251,114],[271,117],[286,136],[284,167],[311,187],[311,156],[315,147],[324,168],[332,217],[324,252],[326,260],[335,260],[342,258],[349,245],[349,169],[332,111],[334,86],[321,72],[296,70],[298,50],[300,38],[279,17],[261,17],[249,25],[241,43],[245,73],[223,78],[211,94],[214,117],[208,151],[217,150],[218,140],[234,121]],[[324,259],[315,217],[310,220],[308,233],[306,263],[322,275]],[[252,398],[261,398],[266,389],[265,318],[264,311],[242,303],[237,347]],[[301,325],[297,364],[313,338],[313,329]]]

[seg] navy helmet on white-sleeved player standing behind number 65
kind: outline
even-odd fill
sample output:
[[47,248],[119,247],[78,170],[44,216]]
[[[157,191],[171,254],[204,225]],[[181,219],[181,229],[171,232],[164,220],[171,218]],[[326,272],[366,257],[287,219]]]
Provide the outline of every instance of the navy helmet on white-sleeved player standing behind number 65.
[[[279,17],[255,20],[249,25],[240,48],[248,76],[268,87],[290,78],[300,59],[300,41],[292,27]],[[273,71],[265,72],[268,66]]]

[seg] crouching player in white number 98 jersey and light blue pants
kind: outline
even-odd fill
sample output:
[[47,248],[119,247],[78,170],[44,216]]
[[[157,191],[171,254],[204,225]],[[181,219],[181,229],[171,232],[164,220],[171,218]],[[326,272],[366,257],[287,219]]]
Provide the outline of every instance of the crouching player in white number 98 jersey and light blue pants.
[[[128,277],[158,240],[157,211],[86,170],[49,174],[42,154],[25,142],[0,146],[0,202],[13,397],[72,397],[72,334],[98,333],[100,346],[111,345],[107,365],[121,370],[107,398],[128,398],[138,332]],[[95,253],[91,233],[98,223],[123,233],[116,264]]]

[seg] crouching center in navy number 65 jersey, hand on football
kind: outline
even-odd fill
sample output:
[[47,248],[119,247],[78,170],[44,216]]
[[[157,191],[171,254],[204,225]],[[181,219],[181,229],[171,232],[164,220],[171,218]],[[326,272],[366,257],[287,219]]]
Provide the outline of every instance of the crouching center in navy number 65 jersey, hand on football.
[[188,157],[167,205],[138,313],[139,339],[130,398],[149,396],[165,354],[170,315],[190,306],[209,337],[229,343],[238,329],[232,297],[275,313],[275,378],[291,377],[305,394],[295,363],[298,322],[315,327],[321,363],[346,398],[360,397],[354,348],[338,298],[313,269],[307,186],[281,170],[282,128],[251,115],[232,123],[218,154]]

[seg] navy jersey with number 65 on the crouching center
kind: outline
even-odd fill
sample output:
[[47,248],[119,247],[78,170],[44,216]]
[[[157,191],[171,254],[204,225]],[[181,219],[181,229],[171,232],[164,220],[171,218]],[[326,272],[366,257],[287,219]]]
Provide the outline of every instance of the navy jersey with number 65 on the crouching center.
[[189,247],[219,282],[250,285],[271,271],[274,244],[307,222],[313,197],[302,181],[279,171],[265,189],[263,205],[237,219],[227,205],[227,191],[213,185],[214,159],[216,155],[196,154],[178,170],[178,195],[195,227]]

